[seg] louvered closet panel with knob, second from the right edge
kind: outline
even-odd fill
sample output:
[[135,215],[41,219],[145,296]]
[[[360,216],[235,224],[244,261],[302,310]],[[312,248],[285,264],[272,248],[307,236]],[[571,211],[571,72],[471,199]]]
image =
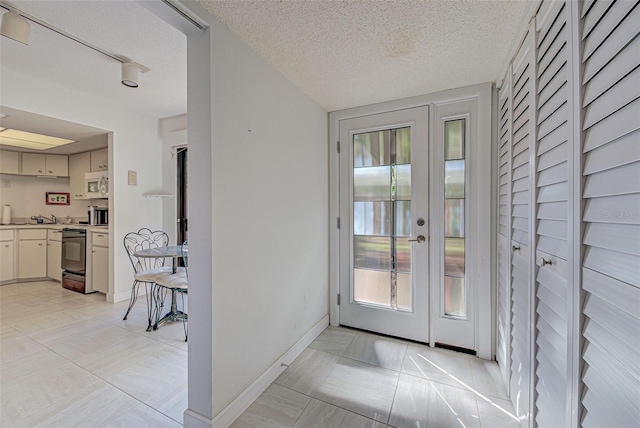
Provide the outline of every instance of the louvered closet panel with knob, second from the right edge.
[[567,17],[563,1],[536,16],[535,422],[565,426],[567,406]]

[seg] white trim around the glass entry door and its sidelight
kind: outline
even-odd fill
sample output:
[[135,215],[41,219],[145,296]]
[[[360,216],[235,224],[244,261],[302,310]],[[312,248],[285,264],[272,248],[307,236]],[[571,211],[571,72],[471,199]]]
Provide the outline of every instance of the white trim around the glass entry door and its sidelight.
[[[452,104],[458,101],[470,99],[476,100],[477,127],[472,135],[478,145],[474,150],[477,167],[473,176],[472,192],[477,193],[475,203],[478,205],[476,224],[484,225],[477,231],[477,240],[473,245],[473,251],[478,257],[473,257],[474,278],[478,284],[476,293],[476,305],[483,308],[491,308],[490,311],[476,309],[476,338],[475,351],[480,358],[493,359],[495,357],[494,335],[495,326],[492,313],[495,311],[493,304],[495,296],[495,282],[492,281],[491,248],[494,245],[495,236],[491,234],[492,205],[491,198],[491,160],[492,160],[492,83],[483,83],[464,88],[451,89],[434,94],[420,95],[401,100],[394,100],[380,104],[372,104],[347,110],[339,110],[329,114],[329,315],[333,326],[340,324],[340,308],[338,306],[338,293],[340,284],[340,242],[338,230],[338,218],[340,217],[340,188],[339,188],[339,157],[337,152],[340,140],[339,122],[360,116],[368,116],[378,113],[386,113],[395,110],[404,110],[413,107],[432,106],[429,109],[429,138],[434,138],[435,111],[437,105]],[[481,202],[484,201],[484,204]],[[430,337],[434,337],[430,335]]]

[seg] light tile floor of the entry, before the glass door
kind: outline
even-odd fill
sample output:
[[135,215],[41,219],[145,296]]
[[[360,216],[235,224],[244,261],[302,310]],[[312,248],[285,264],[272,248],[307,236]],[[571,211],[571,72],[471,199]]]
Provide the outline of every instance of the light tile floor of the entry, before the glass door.
[[519,427],[514,414],[495,362],[329,327],[232,427]]

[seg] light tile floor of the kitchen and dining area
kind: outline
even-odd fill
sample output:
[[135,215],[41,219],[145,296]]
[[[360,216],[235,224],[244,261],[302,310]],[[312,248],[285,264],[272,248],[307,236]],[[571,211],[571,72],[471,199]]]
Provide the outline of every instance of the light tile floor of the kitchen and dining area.
[[0,426],[180,427],[180,322],[147,332],[141,296],[107,303],[54,281],[0,287]]

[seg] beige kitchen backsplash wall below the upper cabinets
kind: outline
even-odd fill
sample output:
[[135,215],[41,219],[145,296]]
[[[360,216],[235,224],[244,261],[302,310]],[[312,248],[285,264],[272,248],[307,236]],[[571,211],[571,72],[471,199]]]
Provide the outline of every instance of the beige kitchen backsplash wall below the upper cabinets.
[[[108,206],[105,199],[78,201],[71,200],[69,205],[47,205],[45,203],[46,192],[69,193],[69,178],[37,178],[23,175],[0,174],[0,204],[11,205],[13,219],[29,218],[42,214],[51,217],[51,214],[62,222],[66,216],[77,220],[87,220],[87,206]],[[10,187],[4,187],[6,183]]]

